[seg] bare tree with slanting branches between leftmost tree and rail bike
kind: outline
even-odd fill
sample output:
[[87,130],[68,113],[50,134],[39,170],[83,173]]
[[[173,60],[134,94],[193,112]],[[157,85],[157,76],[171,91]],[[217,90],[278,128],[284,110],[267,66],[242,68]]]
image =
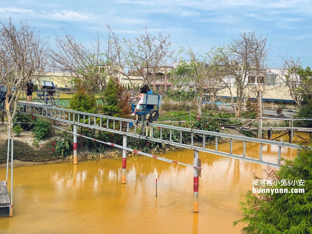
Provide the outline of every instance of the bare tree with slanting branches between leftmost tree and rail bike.
[[55,36],[56,49],[49,49],[53,71],[70,74],[79,91],[97,94],[103,100],[108,74],[103,64],[99,37],[93,40],[90,49],[66,33],[64,37]]

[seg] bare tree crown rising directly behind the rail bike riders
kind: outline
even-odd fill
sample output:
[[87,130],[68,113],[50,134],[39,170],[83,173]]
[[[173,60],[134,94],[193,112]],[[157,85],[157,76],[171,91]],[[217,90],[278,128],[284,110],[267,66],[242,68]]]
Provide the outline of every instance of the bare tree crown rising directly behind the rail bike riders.
[[117,34],[115,34],[110,26],[109,40],[107,51],[108,58],[112,64],[119,68],[122,75],[128,77],[135,74],[142,76],[144,83],[150,85],[157,79],[159,73],[167,73],[166,67],[170,66],[174,51],[170,50],[171,42],[169,36],[163,36],[161,33],[158,37],[153,36],[148,32],[147,27],[144,27],[144,34],[139,37],[131,39],[124,39],[121,41]]

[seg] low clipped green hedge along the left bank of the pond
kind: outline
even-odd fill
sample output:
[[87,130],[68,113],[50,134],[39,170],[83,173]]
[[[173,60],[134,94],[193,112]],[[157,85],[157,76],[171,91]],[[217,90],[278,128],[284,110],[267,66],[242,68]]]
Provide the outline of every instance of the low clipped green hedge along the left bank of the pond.
[[[35,149],[25,142],[14,140],[13,158],[21,161],[46,162],[56,160],[60,155],[52,151],[52,142],[44,144],[41,148]],[[11,145],[10,157],[11,161]],[[7,140],[0,143],[0,163],[7,162]]]

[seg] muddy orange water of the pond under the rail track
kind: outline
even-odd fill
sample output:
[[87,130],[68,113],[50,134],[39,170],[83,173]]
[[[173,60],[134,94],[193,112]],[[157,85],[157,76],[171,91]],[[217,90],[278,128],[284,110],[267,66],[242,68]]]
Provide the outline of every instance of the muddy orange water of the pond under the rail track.
[[[218,149],[229,152],[229,144]],[[242,150],[234,143],[234,154]],[[277,151],[264,145],[263,159],[275,161]],[[258,153],[258,144],[246,144],[246,156]],[[281,154],[294,158],[296,150],[282,147]],[[191,150],[163,157],[193,163]],[[199,213],[193,213],[193,168],[178,164],[128,157],[125,185],[121,158],[102,159],[101,173],[99,160],[14,168],[13,217],[0,218],[0,233],[240,233],[242,224],[232,226],[241,218],[238,202],[252,187],[252,173],[262,176],[265,166],[202,152],[199,158]],[[0,169],[1,180],[5,174]]]

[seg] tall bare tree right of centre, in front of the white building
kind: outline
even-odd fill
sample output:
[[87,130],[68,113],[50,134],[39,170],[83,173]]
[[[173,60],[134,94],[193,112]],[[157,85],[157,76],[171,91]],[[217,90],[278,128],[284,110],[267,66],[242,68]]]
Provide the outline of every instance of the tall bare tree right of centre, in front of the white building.
[[[247,85],[258,83],[258,88],[261,89],[261,85],[265,84],[263,72],[267,66],[269,50],[266,37],[256,37],[254,32],[241,33],[240,37],[231,39],[229,45],[213,48],[220,70],[223,70],[220,81],[229,89],[236,118],[241,118],[242,100]],[[232,92],[232,86],[235,87],[236,94]]]

